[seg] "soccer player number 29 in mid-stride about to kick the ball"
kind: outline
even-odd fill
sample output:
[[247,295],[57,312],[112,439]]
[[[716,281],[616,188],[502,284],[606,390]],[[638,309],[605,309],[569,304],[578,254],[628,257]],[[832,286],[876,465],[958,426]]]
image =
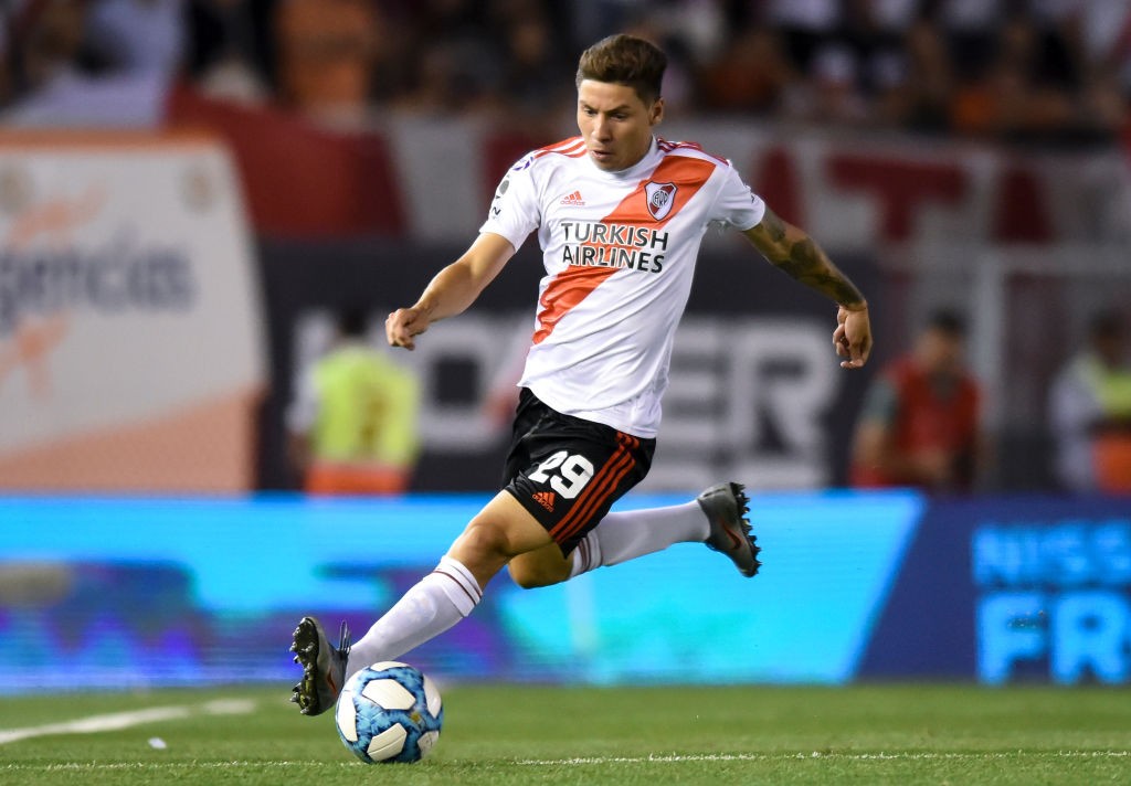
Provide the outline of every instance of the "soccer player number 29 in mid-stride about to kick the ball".
[[520,587],[566,581],[681,542],[702,542],[743,576],[759,549],[737,483],[671,508],[610,512],[648,472],[667,386],[672,338],[708,226],[732,226],[778,269],[838,304],[840,365],[864,365],[867,304],[800,228],[778,218],[731,163],[654,135],[664,118],[666,59],[614,35],[587,49],[577,71],[580,136],[521,158],[495,191],[470,248],[409,308],[389,314],[389,344],[412,349],[432,322],[467,309],[527,235],[546,275],[503,490],[425,576],[351,648],[304,617],[292,650],[302,665],[293,701],[329,709],[345,680],[400,657],[467,616],[503,565]]

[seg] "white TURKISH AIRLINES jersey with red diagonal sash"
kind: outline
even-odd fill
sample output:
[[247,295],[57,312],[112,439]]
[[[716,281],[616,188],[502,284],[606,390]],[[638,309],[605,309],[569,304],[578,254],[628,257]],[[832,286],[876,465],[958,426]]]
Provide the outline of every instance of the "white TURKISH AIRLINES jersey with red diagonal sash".
[[708,226],[748,230],[762,200],[728,161],[654,139],[605,172],[580,137],[503,178],[480,232],[518,249],[537,230],[546,275],[519,386],[558,412],[655,437],[672,340]]

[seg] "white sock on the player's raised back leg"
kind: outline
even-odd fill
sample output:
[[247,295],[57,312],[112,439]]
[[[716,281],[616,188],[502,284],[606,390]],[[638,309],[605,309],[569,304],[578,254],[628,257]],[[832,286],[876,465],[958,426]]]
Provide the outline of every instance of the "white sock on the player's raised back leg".
[[570,554],[570,578],[663,551],[673,543],[701,543],[708,535],[710,522],[698,502],[608,513]]

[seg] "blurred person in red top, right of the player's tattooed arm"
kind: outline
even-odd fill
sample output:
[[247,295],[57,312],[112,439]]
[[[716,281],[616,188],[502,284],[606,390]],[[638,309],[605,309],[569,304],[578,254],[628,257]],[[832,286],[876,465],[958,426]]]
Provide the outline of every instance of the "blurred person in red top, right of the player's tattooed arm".
[[873,381],[853,444],[856,486],[967,492],[981,463],[981,391],[960,317],[938,311],[912,352]]

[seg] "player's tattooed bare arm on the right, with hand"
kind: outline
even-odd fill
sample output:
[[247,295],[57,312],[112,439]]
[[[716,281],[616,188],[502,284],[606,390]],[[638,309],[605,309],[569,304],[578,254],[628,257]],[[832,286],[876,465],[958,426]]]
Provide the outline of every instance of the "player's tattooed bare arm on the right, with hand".
[[779,270],[840,306],[832,332],[837,354],[847,359],[840,365],[845,369],[864,365],[872,352],[867,301],[817,242],[768,207],[762,221],[743,234]]

